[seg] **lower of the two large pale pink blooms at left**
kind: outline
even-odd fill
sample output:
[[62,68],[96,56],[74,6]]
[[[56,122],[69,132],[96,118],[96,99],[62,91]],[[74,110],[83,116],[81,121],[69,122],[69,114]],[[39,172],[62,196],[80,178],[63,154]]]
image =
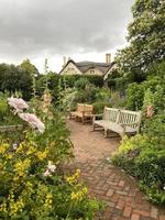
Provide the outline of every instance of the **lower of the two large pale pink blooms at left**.
[[45,131],[44,123],[37,119],[37,117],[33,113],[19,113],[19,117],[26,121],[33,129],[37,129],[40,133]]

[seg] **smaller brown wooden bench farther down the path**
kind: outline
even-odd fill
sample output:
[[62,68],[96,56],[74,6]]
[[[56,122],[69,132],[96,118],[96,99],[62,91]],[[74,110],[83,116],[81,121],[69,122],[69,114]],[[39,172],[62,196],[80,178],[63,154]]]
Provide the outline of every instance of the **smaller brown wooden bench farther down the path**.
[[82,123],[92,121],[94,117],[94,107],[92,105],[77,103],[76,111],[70,112],[70,119],[80,119]]

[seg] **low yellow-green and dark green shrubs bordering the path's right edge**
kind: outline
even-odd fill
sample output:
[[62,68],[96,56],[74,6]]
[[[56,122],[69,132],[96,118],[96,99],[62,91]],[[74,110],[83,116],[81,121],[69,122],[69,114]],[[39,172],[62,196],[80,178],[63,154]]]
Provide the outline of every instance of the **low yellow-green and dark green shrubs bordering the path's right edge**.
[[112,162],[139,179],[151,201],[165,205],[165,150],[154,136],[124,139]]

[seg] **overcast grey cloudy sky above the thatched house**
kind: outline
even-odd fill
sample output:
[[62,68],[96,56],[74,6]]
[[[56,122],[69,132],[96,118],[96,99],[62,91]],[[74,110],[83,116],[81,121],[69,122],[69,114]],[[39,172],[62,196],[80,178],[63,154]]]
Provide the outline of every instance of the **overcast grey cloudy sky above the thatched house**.
[[125,45],[134,0],[1,0],[0,63],[58,72],[63,56],[105,62]]

